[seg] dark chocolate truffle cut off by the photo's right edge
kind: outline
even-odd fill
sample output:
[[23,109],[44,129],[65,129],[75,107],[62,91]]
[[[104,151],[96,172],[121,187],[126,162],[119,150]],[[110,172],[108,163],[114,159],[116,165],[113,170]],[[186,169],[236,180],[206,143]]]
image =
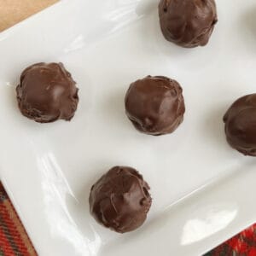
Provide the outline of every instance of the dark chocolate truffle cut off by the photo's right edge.
[[224,115],[228,143],[245,155],[256,156],[256,94],[243,96]]

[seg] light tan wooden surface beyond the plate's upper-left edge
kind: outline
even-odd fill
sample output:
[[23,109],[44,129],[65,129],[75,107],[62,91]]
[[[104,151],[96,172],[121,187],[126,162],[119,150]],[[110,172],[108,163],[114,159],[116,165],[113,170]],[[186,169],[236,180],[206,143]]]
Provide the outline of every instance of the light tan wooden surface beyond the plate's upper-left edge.
[[0,32],[59,0],[0,0]]

